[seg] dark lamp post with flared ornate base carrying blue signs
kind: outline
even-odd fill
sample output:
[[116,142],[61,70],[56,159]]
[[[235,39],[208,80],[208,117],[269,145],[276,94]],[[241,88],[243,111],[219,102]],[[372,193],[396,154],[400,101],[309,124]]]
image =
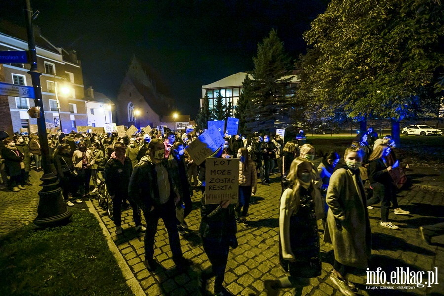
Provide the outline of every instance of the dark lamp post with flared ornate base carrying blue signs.
[[30,0],[25,0],[26,31],[28,35],[28,49],[31,69],[28,73],[34,87],[34,104],[40,107],[40,118],[37,118],[38,136],[41,146],[41,158],[43,167],[43,177],[40,179],[43,184],[38,192],[40,201],[38,204],[38,216],[34,219],[34,225],[39,228],[59,226],[70,221],[72,213],[66,209],[66,203],[62,197],[62,190],[57,181],[57,177],[52,173],[49,162],[48,137],[46,135],[45,112],[43,109],[43,99],[41,95],[40,75],[37,67],[36,44],[34,40]]

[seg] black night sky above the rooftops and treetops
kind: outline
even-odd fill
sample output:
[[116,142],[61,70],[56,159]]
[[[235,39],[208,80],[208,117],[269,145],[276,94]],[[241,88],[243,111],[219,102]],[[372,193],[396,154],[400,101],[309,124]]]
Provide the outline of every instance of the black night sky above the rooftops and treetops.
[[[25,26],[25,0],[1,1],[0,17]],[[197,113],[202,85],[253,69],[257,44],[276,29],[294,59],[302,33],[328,0],[31,0],[55,46],[75,49],[86,87],[111,100],[135,54],[163,76],[181,114]],[[23,3],[23,4],[22,4]]]

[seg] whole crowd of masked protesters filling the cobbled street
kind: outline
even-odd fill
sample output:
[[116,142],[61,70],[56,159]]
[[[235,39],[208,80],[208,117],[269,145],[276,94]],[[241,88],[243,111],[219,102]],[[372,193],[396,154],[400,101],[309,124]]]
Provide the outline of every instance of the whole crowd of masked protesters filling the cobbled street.
[[[312,162],[315,147],[299,146],[303,131],[288,142],[279,135],[225,135],[224,144],[211,157],[240,159],[239,198],[237,204],[222,201],[208,205],[205,204],[205,162],[197,165],[185,153],[185,147],[201,132],[151,131],[130,137],[118,137],[116,133],[48,135],[51,168],[59,178],[68,206],[83,202],[97,192],[101,182],[106,183],[114,201],[116,234],[123,232],[122,209],[132,209],[136,230],[145,231],[144,264],[149,271],[157,266],[154,238],[159,218],[165,224],[174,263],[179,267],[192,264],[182,255],[179,234],[189,231],[185,218],[192,210],[193,189],[200,190],[203,197],[199,233],[212,265],[201,273],[200,284],[205,287],[206,281],[215,276],[216,295],[231,295],[222,285],[225,268],[229,248],[237,247],[237,223],[249,225],[250,197],[256,194],[259,182],[268,186],[270,176],[279,173],[282,192],[278,206],[278,256],[288,275],[266,280],[267,295],[277,295],[279,289],[290,287],[296,289],[295,295],[301,295],[309,278],[321,274],[317,226],[320,219],[323,220],[323,239],[334,249],[330,279],[344,295],[355,295],[358,289],[346,275],[353,268],[368,266],[371,255],[368,209],[380,202],[380,225],[394,230],[398,226],[389,221],[390,206],[393,205],[394,214],[409,214],[399,207],[396,187],[391,182],[389,172],[399,167],[391,137],[379,139],[369,128],[357,135],[342,157],[337,151],[331,151],[323,155],[315,167]],[[31,185],[32,160],[35,170],[41,170],[40,149],[37,135],[17,134],[3,141],[1,177],[12,192]],[[91,177],[93,190],[90,192]],[[146,227],[142,225],[141,210]],[[177,213],[181,211],[179,218]]]

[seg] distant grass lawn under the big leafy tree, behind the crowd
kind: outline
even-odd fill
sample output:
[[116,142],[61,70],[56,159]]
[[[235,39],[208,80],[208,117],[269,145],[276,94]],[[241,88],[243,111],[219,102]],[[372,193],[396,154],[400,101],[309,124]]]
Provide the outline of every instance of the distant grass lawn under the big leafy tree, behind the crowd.
[[[307,143],[316,148],[316,154],[321,156],[330,151],[338,152],[341,157],[345,149],[354,140],[344,136],[307,137]],[[443,136],[401,136],[401,143],[395,153],[403,163],[415,165],[443,165],[444,137]]]

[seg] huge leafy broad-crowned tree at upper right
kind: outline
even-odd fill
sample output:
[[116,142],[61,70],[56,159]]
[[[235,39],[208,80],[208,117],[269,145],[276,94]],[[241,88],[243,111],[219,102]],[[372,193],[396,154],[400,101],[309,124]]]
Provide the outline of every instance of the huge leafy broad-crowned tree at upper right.
[[304,34],[314,49],[300,65],[301,91],[323,110],[399,129],[424,88],[442,87],[443,34],[439,0],[333,0]]

